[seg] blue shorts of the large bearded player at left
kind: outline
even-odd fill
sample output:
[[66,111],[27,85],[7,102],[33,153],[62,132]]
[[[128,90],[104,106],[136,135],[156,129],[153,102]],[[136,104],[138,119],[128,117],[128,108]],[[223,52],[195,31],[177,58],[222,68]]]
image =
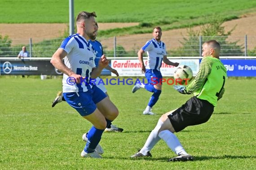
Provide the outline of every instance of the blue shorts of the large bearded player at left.
[[87,92],[63,93],[63,97],[81,116],[87,116],[96,110],[96,104],[106,98],[106,94],[93,85]]

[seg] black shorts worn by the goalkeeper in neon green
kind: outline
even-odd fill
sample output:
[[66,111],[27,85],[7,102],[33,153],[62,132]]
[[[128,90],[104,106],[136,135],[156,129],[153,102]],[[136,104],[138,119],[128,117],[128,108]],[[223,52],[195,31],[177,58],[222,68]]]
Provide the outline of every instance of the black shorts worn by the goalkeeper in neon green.
[[190,98],[184,105],[168,115],[175,132],[185,127],[207,122],[214,110],[214,106],[207,100]]

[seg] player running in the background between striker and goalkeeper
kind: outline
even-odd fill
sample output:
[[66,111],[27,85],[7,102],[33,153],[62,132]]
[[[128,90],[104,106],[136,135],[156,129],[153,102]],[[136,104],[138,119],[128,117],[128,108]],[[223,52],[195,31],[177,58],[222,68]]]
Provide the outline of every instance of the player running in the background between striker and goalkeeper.
[[[162,92],[162,83],[159,82],[160,79],[163,79],[163,76],[160,72],[162,61],[165,64],[172,65],[177,67],[179,63],[172,63],[167,59],[167,54],[165,50],[165,44],[161,41],[162,29],[159,26],[154,27],[153,29],[153,39],[149,40],[141,49],[138,51],[138,58],[141,64],[141,73],[146,76],[148,83],[137,83],[132,88],[132,93],[135,93],[140,88],[145,88],[147,91],[150,91],[152,94],[146,109],[143,111],[143,115],[154,115],[151,111],[152,107],[158,101],[159,96]],[[143,62],[143,53],[146,52],[148,56],[148,64]],[[153,81],[152,81],[153,79]],[[157,82],[157,83],[156,83]]]

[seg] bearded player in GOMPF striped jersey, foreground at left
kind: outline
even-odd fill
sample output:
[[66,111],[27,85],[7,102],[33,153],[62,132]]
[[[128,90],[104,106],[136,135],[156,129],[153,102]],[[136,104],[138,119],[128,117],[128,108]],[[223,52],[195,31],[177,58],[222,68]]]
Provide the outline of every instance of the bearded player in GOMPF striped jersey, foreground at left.
[[[53,54],[51,63],[63,72],[62,91],[66,102],[81,116],[93,124],[86,136],[87,143],[81,157],[102,158],[98,145],[102,133],[109,123],[118,116],[118,109],[96,85],[90,83],[97,78],[109,60],[102,55],[96,68],[95,55],[89,39],[96,38],[96,14],[82,11],[76,18],[77,34],[66,38]],[[64,59],[64,63],[62,62]]]

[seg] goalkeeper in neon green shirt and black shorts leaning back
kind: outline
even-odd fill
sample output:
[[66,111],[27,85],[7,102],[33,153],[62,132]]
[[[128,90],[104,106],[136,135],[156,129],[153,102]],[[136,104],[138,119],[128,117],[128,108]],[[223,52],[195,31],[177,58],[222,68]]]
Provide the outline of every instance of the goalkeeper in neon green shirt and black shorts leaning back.
[[225,92],[224,85],[227,77],[226,68],[219,58],[220,44],[216,40],[210,40],[203,43],[202,47],[203,59],[195,79],[187,86],[173,86],[179,93],[194,93],[194,96],[180,108],[162,115],[144,147],[131,157],[151,157],[150,150],[160,139],[163,139],[177,154],[177,157],[169,161],[193,161],[194,158],[186,153],[174,132],[180,132],[188,126],[205,123],[210,119],[217,101]]

